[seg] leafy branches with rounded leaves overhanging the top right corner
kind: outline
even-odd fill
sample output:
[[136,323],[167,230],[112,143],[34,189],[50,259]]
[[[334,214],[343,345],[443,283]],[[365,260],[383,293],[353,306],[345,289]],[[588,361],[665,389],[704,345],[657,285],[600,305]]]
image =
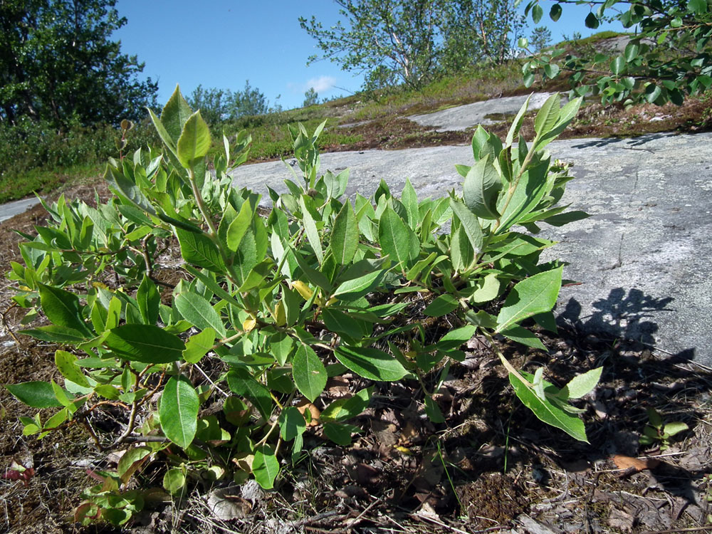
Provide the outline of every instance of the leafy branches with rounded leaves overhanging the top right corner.
[[[550,7],[550,18],[557,21],[562,0]],[[710,0],[605,0],[589,3],[588,28],[598,28],[601,21],[616,20],[635,33],[620,53],[601,53],[582,58],[569,53],[559,64],[553,60],[565,54],[563,49],[535,55],[525,64],[525,83],[530,85],[535,73],[544,78],[560,73],[569,75],[577,95],[600,95],[603,103],[626,105],[649,102],[678,105],[684,98],[708,90],[712,85],[712,2]],[[526,8],[535,23],[543,17],[539,0]]]

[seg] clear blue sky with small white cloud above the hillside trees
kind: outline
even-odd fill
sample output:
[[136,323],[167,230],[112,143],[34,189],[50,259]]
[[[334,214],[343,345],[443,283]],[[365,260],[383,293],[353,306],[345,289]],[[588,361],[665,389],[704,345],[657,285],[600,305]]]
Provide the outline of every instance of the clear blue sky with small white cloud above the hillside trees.
[[[562,33],[592,33],[583,23],[587,6],[564,6],[553,23],[550,5],[542,2],[547,15],[540,24],[548,25],[556,41]],[[331,0],[118,0],[116,8],[128,22],[113,38],[120,39],[124,53],[146,63],[145,75],[159,83],[159,103],[177,83],[189,95],[199,84],[241,90],[249,80],[272,105],[290,109],[300,107],[310,87],[320,98],[331,98],[355,92],[362,83],[360,75],[330,61],[305,66],[317,50],[298,18],[315,15],[324,26],[335,23],[338,6]]]

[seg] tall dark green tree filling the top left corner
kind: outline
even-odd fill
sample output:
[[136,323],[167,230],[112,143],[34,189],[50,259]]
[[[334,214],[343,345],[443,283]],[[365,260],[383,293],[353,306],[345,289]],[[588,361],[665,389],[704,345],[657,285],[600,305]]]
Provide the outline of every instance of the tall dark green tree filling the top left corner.
[[126,23],[115,4],[0,1],[0,120],[115,123],[155,105],[157,84],[137,79],[143,63],[110,38]]

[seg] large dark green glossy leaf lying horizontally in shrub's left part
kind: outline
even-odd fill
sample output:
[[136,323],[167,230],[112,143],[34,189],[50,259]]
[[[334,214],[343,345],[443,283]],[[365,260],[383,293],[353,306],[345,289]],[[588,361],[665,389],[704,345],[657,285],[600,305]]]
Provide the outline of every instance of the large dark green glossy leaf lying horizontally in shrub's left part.
[[117,357],[130,362],[177,362],[185,350],[180,337],[154,325],[122,325],[110,331],[105,343]]

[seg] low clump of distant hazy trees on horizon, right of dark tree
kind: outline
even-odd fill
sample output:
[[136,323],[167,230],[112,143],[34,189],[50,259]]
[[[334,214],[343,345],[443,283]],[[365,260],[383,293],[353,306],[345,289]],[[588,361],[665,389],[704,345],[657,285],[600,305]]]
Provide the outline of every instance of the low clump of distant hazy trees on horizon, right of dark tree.
[[243,90],[197,88],[187,99],[190,106],[199,109],[208,122],[217,123],[224,120],[235,120],[249,115],[263,115],[269,110],[265,95],[258,88],[253,88],[249,80],[245,80]]

